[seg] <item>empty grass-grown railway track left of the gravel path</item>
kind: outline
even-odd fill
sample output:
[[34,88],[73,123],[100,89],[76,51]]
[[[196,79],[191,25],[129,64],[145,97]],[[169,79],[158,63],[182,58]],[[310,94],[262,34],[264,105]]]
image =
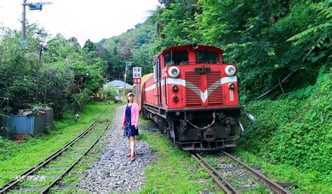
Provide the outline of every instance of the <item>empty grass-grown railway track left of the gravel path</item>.
[[2,186],[0,193],[48,193],[102,137],[111,122],[110,117],[106,121],[101,120],[105,112],[99,114],[74,140]]

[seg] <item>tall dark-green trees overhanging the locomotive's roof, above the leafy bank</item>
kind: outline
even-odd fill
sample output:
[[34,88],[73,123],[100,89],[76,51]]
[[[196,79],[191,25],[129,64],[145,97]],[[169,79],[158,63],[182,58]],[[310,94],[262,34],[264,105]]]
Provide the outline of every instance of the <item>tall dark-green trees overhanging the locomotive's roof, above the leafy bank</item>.
[[[293,70],[284,91],[308,87],[322,64],[332,64],[328,1],[162,3],[165,7],[153,15],[159,32],[153,50],[193,42],[223,48],[224,61],[237,62],[242,100],[258,97]],[[276,91],[274,98],[281,93]]]

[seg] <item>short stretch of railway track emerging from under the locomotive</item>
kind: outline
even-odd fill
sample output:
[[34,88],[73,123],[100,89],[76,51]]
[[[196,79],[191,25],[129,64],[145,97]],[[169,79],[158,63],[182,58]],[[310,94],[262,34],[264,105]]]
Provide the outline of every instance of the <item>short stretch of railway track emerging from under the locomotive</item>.
[[[205,167],[207,172],[214,179],[216,185],[219,186],[219,188],[221,188],[225,193],[241,193],[242,191],[248,189],[241,187],[238,179],[246,179],[246,181],[251,181],[251,185],[256,185],[258,186],[258,189],[260,189],[257,191],[258,193],[266,193],[266,191],[268,193],[291,193],[279,184],[268,179],[268,177],[265,177],[264,174],[258,172],[258,170],[254,169],[254,167],[250,167],[249,165],[244,164],[242,161],[238,160],[234,156],[231,156],[225,151],[223,151],[222,157],[216,158],[216,160],[214,160],[214,165],[217,165],[218,167],[213,167],[205,158],[200,156],[200,154],[194,153],[192,156],[196,161],[198,161],[198,163],[200,163],[200,165]],[[232,161],[233,164],[228,165],[228,167],[221,167],[222,165],[219,162],[225,161],[225,157],[228,158],[228,163]],[[239,170],[241,172],[238,172]],[[252,181],[256,181],[256,184],[252,184]],[[261,186],[264,186],[265,188],[261,188]],[[249,189],[253,192],[256,191],[255,186],[250,186]],[[262,189],[264,191],[262,191]]]

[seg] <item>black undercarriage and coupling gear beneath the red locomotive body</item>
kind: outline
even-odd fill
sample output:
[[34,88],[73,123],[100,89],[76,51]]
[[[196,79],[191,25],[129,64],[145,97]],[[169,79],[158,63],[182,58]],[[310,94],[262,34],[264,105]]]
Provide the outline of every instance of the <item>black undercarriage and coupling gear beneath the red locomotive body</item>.
[[160,133],[185,151],[216,151],[235,147],[240,138],[240,106],[164,110],[144,103],[143,114]]

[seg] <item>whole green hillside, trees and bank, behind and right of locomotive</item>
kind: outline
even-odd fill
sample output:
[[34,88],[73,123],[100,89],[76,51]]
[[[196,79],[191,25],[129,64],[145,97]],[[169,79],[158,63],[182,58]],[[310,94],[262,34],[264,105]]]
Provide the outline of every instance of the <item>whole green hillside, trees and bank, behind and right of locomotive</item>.
[[[247,129],[240,149],[331,186],[331,1],[161,3],[151,16],[155,22],[113,37],[104,47],[130,50],[128,59],[142,59],[145,67],[151,54],[173,45],[221,47],[226,61],[237,62],[244,113],[257,118],[242,117]],[[281,87],[256,100],[288,75]]]

